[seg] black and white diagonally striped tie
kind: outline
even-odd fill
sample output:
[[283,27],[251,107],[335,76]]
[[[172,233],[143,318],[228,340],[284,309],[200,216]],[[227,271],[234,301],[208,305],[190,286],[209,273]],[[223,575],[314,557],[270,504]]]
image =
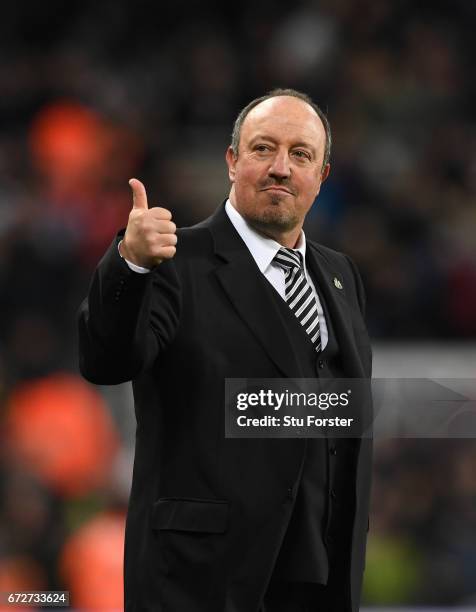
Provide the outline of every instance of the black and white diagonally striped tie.
[[274,261],[284,270],[286,302],[311,338],[317,352],[321,350],[321,330],[317,303],[308,283],[299,251],[281,247]]

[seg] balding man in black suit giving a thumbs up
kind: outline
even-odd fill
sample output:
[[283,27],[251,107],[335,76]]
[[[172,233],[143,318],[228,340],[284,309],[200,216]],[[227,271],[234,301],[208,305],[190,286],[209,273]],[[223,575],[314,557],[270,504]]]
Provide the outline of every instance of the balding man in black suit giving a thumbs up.
[[130,181],[79,323],[83,375],[133,382],[126,610],[358,610],[369,441],[224,435],[226,378],[370,377],[359,275],[302,231],[330,142],[306,95],[275,90],[238,116],[206,221],[176,232]]

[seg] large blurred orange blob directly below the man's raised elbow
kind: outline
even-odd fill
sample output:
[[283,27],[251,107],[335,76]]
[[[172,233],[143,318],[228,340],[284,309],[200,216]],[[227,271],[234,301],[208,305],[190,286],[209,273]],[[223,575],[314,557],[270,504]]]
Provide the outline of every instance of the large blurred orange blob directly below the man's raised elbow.
[[66,496],[103,486],[119,447],[102,397],[67,374],[17,387],[9,400],[6,434],[13,460]]

